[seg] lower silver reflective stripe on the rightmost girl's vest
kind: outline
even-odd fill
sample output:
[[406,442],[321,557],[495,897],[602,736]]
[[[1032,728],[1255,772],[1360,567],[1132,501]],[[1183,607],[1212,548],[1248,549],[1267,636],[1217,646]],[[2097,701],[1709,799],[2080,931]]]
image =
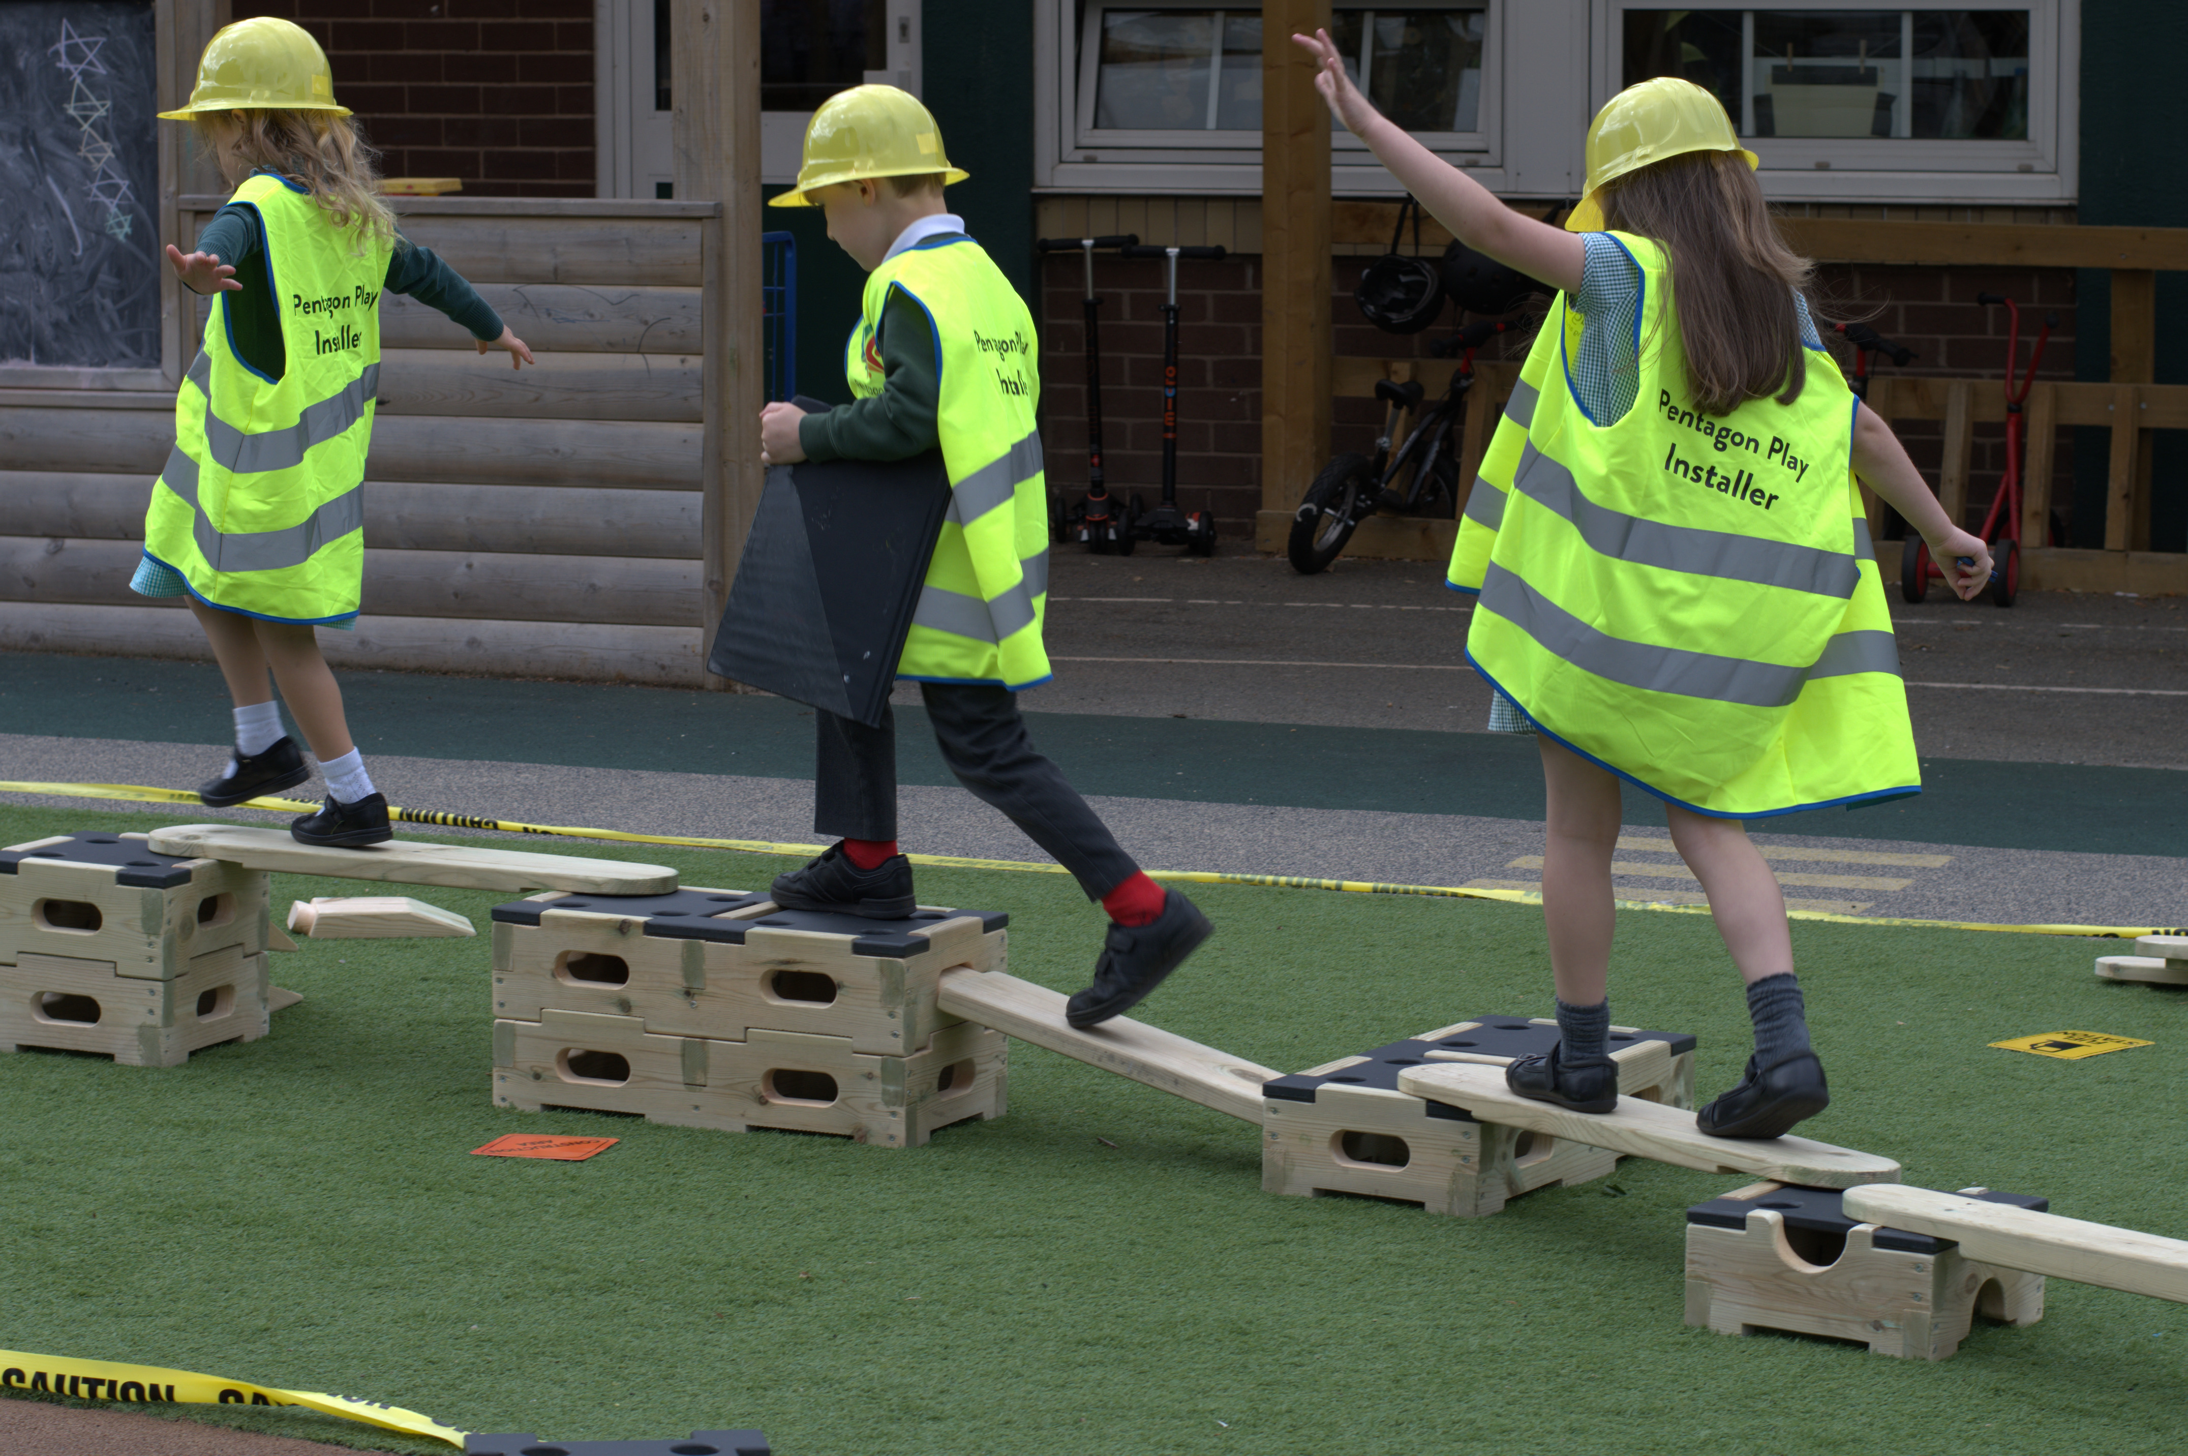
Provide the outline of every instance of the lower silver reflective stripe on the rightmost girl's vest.
[[1676,692],[1748,707],[1790,707],[1812,677],[1899,672],[1899,650],[1890,633],[1838,633],[1809,668],[1628,642],[1595,631],[1494,563],[1481,582],[1481,604],[1534,637],[1545,652],[1645,692]]

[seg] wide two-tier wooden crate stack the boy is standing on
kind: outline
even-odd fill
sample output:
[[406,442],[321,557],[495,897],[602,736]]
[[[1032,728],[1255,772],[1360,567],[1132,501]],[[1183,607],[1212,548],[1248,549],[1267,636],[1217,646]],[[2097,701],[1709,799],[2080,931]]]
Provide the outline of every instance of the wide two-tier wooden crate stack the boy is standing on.
[[1006,915],[860,920],[687,887],[492,920],[499,1106],[884,1147],[1006,1108],[1009,1038],[934,1005],[941,972],[1004,968]]

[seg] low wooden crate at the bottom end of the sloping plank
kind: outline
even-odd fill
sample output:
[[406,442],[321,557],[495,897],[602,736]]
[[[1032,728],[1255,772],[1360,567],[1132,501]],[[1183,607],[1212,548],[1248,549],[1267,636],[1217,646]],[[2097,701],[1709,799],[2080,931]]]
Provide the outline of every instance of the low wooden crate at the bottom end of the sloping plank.
[[[1464,1108],[1398,1090],[1398,1073],[1433,1062],[1503,1066],[1549,1051],[1558,1022],[1477,1016],[1262,1086],[1260,1187],[1269,1193],[1365,1193],[1431,1213],[1486,1217],[1536,1189],[1588,1182],[1617,1154],[1475,1121]],[[1694,1038],[1610,1029],[1619,1093],[1694,1106]]]

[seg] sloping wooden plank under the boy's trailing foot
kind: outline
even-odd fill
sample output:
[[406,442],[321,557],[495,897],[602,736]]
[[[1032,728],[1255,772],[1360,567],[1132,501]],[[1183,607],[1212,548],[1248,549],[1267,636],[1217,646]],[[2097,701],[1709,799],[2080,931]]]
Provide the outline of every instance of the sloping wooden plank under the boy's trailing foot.
[[1116,1016],[1087,1031],[1063,1020],[1066,996],[1000,970],[945,970],[936,1005],[950,1016],[1112,1071],[1260,1125],[1260,1084],[1284,1073]]

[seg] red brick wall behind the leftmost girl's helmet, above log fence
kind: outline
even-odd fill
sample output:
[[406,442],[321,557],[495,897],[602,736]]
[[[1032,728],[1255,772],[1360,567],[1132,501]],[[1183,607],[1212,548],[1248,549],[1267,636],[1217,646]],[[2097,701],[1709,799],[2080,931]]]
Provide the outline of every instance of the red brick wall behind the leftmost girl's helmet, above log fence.
[[389,177],[591,197],[593,0],[236,0],[311,31]]

